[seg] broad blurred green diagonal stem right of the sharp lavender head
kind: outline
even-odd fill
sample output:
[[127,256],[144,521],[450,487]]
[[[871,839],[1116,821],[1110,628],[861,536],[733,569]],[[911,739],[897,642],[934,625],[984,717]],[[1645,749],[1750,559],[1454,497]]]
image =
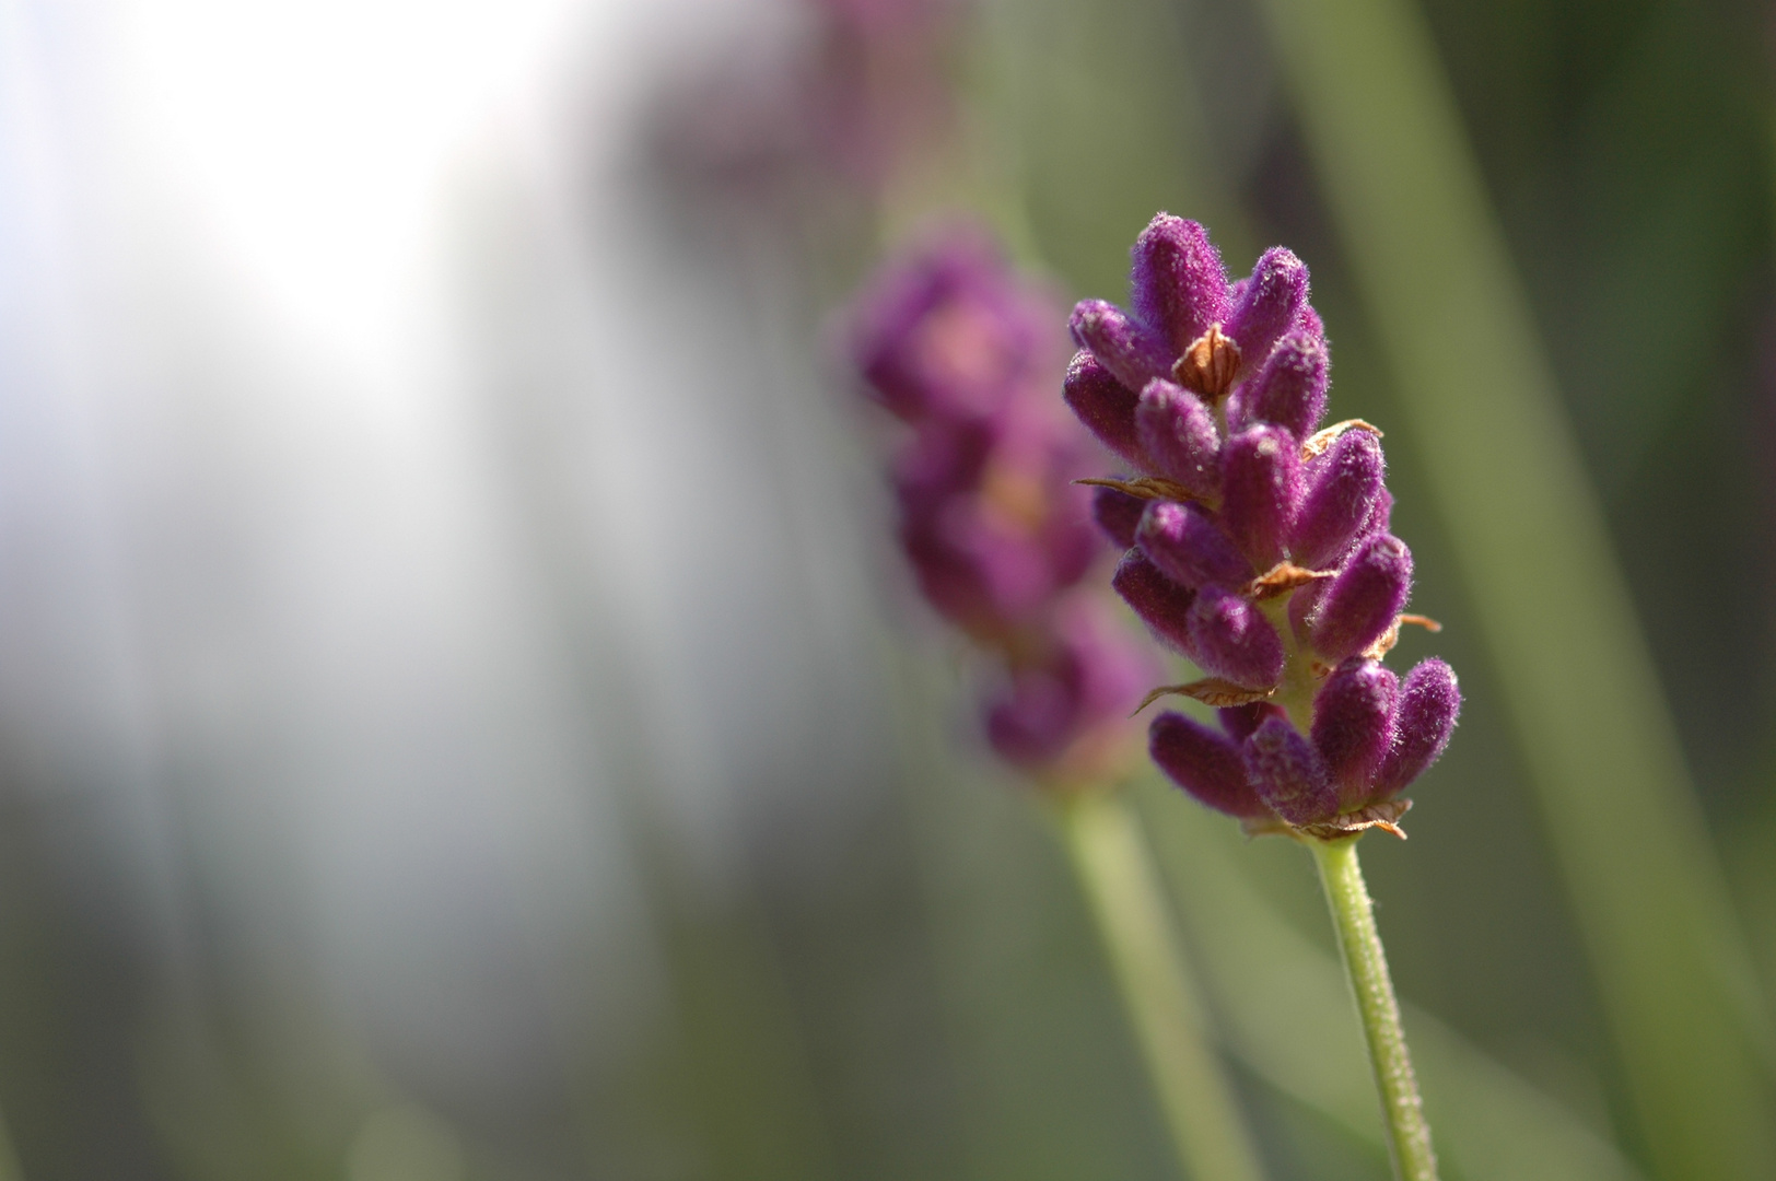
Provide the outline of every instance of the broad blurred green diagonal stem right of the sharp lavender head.
[[1769,1018],[1424,14],[1261,9],[1506,691],[1648,1156],[1669,1181],[1776,1176]]

